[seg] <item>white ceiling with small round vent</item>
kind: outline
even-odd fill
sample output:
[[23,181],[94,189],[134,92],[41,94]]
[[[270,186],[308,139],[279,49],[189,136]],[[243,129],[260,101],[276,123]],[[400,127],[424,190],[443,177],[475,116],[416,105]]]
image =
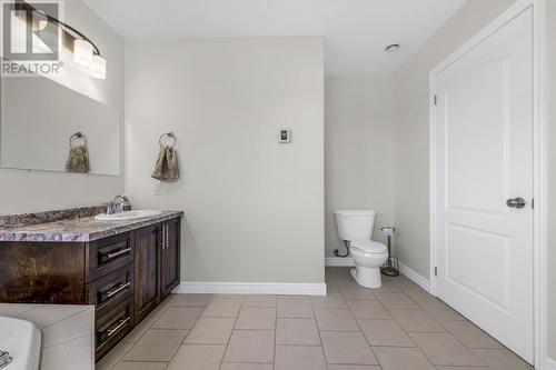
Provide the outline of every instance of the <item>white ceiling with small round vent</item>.
[[327,74],[353,76],[395,72],[466,0],[85,1],[126,39],[326,36]]

